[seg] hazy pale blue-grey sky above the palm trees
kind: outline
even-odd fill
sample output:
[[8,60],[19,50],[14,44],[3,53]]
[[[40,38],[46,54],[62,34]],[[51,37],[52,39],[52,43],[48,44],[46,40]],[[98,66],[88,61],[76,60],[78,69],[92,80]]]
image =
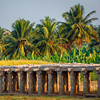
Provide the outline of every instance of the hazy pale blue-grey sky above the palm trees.
[[36,25],[45,16],[64,22],[62,14],[78,3],[84,6],[84,16],[96,10],[90,18],[97,17],[93,24],[100,25],[100,0],[0,0],[0,26],[11,31],[19,18]]

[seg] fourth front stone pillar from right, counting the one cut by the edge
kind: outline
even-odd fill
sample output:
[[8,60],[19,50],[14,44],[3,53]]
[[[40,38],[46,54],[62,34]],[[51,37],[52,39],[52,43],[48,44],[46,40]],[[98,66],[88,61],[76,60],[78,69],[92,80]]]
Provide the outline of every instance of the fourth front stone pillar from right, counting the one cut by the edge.
[[64,94],[64,81],[62,71],[57,72],[59,75],[59,95]]

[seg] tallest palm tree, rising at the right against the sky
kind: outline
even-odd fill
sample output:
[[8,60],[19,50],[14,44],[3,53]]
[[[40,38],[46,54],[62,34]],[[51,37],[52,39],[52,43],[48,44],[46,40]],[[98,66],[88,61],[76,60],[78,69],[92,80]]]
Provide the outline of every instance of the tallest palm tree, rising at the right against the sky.
[[79,54],[82,43],[90,43],[92,39],[98,41],[97,32],[89,25],[92,21],[97,20],[98,18],[88,19],[90,15],[95,12],[96,11],[92,11],[86,17],[83,17],[84,7],[78,4],[71,7],[69,12],[65,12],[62,15],[66,20],[65,23],[62,22],[64,25],[62,35],[69,40],[67,43],[68,46],[71,46],[74,42],[76,43],[79,49]]

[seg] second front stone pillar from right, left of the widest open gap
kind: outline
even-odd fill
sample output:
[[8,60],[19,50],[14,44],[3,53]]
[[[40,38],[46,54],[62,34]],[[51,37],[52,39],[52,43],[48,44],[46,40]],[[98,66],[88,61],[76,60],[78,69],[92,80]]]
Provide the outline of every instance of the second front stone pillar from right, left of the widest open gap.
[[89,72],[82,71],[82,75],[83,75],[83,93],[84,93],[84,96],[86,96],[86,94],[90,92]]

